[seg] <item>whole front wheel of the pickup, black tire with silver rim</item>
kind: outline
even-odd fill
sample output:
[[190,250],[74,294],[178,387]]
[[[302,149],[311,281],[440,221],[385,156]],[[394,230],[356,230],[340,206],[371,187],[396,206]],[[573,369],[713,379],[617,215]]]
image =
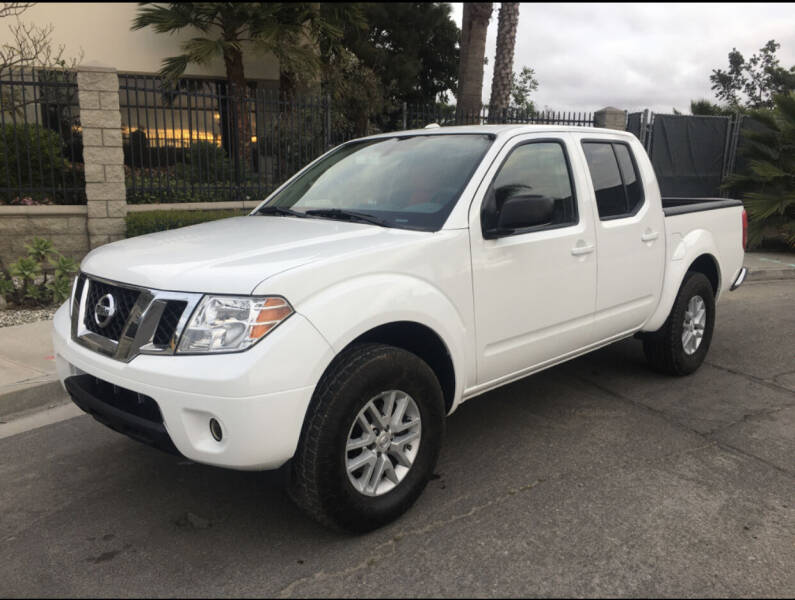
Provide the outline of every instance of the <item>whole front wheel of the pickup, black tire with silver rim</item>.
[[442,390],[423,360],[393,346],[355,345],[318,383],[290,468],[289,494],[333,528],[380,527],[422,493],[443,432]]

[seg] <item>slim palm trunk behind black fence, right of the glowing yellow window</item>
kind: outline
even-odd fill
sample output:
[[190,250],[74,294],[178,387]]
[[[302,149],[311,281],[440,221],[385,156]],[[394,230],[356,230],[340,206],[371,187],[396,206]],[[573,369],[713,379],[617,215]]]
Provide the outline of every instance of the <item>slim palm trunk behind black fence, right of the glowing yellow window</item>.
[[230,50],[224,54],[226,79],[229,83],[229,119],[232,139],[229,154],[235,169],[235,179],[241,181],[251,169],[251,118],[248,110],[248,86],[243,72],[243,54]]

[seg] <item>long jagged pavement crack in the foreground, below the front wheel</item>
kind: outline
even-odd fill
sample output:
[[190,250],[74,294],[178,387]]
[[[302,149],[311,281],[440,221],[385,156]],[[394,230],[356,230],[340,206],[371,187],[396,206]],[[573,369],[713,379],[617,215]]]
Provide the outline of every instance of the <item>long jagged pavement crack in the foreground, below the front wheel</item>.
[[430,533],[431,531],[439,529],[441,527],[446,527],[447,525],[455,523],[456,521],[460,521],[462,519],[468,519],[468,518],[476,515],[477,513],[481,512],[481,511],[483,511],[483,510],[485,510],[487,508],[490,508],[491,506],[494,506],[495,504],[499,504],[500,502],[504,502],[505,500],[508,500],[509,498],[512,498],[512,497],[516,496],[516,494],[527,492],[527,491],[533,489],[534,487],[536,487],[539,483],[541,483],[543,481],[545,481],[545,480],[544,479],[536,479],[536,480],[534,480],[534,481],[532,481],[532,482],[530,482],[528,484],[521,485],[521,486],[516,487],[516,488],[510,488],[504,494],[502,494],[500,496],[497,496],[496,498],[492,498],[488,502],[484,502],[482,504],[476,504],[475,506],[473,506],[472,508],[470,508],[466,512],[455,514],[455,515],[453,515],[451,517],[448,517],[446,519],[437,519],[435,521],[431,521],[427,525],[423,525],[422,527],[415,527],[415,528],[412,528],[412,529],[398,531],[390,539],[386,540],[385,542],[381,542],[380,544],[375,546],[375,548],[373,548],[373,550],[371,552],[369,552],[368,557],[366,559],[360,561],[358,564],[356,564],[356,565],[354,565],[352,567],[348,567],[346,569],[341,569],[341,570],[338,570],[338,571],[331,571],[329,573],[327,573],[324,570],[320,570],[320,571],[318,571],[316,573],[313,573],[312,575],[308,575],[306,577],[301,577],[301,578],[296,579],[295,581],[291,582],[290,584],[288,584],[280,592],[274,594],[274,596],[279,597],[279,598],[289,598],[292,595],[293,590],[296,587],[300,586],[301,584],[310,583],[310,582],[325,581],[325,580],[331,579],[333,577],[346,577],[348,575],[352,575],[353,573],[356,573],[356,572],[361,571],[363,569],[367,569],[369,567],[372,567],[375,564],[377,564],[378,562],[380,562],[380,561],[390,557],[391,555],[393,555],[395,553],[395,549],[397,548],[398,542],[400,542],[404,538],[409,537],[409,536],[424,535],[424,534]]

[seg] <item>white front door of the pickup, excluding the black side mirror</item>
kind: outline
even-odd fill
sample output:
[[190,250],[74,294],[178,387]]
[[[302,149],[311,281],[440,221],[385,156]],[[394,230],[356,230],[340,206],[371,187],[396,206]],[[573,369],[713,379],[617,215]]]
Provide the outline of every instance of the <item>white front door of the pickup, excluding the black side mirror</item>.
[[[519,376],[590,341],[596,240],[580,193],[585,183],[569,160],[573,143],[569,134],[509,141],[470,208],[479,385]],[[552,198],[548,222],[484,234],[514,194]]]

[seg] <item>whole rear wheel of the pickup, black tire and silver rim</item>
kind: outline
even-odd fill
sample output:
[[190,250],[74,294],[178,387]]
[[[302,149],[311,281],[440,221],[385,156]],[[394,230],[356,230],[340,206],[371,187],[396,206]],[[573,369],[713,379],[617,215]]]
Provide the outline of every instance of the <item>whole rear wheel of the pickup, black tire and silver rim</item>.
[[715,295],[702,273],[688,272],[663,326],[643,339],[646,360],[669,375],[689,375],[707,356],[715,328]]

